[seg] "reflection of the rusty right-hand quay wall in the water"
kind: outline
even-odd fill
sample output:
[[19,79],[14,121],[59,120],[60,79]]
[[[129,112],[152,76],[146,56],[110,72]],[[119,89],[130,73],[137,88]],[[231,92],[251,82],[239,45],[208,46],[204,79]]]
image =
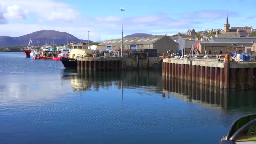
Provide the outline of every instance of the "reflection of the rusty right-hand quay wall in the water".
[[163,77],[163,97],[172,94],[182,100],[195,103],[217,104],[224,108],[253,107],[255,90],[225,90],[175,78]]

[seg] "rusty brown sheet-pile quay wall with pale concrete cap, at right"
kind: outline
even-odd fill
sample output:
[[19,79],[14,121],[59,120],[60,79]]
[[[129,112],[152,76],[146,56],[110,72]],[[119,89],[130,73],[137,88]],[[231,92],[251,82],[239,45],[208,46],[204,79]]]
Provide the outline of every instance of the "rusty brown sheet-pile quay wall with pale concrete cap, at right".
[[[227,59],[226,59],[227,60]],[[256,62],[163,59],[163,77],[176,77],[214,88],[255,88]]]

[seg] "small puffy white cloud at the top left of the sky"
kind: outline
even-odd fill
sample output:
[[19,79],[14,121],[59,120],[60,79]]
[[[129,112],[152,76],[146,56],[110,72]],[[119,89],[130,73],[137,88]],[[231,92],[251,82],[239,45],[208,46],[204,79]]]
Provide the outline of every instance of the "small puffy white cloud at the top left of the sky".
[[27,19],[27,11],[21,8],[19,5],[7,6],[6,13],[3,17],[7,20],[20,20]]

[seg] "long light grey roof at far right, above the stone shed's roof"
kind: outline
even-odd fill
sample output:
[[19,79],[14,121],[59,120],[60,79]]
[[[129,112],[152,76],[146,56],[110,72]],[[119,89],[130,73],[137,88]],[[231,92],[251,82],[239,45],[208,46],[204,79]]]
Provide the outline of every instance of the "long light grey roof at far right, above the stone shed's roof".
[[239,43],[249,43],[255,41],[256,37],[213,37],[210,42],[239,42]]

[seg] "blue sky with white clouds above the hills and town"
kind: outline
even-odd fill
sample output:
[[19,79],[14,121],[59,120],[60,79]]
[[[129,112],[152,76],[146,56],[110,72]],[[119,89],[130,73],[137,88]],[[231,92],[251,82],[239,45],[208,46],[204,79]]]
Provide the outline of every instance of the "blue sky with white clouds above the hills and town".
[[68,32],[93,41],[133,33],[174,35],[188,29],[256,28],[255,0],[0,0],[0,36],[38,30]]

